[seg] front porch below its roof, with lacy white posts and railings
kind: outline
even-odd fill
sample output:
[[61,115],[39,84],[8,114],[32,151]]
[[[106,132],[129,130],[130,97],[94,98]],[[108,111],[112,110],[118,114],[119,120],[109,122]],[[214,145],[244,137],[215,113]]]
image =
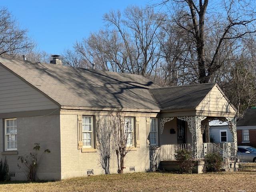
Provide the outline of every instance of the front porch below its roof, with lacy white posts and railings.
[[[236,119],[219,118],[228,121],[232,142],[211,143],[209,122],[213,117],[183,116],[161,118],[160,131],[160,167],[165,170],[173,170],[176,165],[174,154],[176,150],[191,150],[196,161],[196,172],[201,173],[204,166],[204,158],[209,153],[220,154],[223,159],[222,168],[226,171],[235,171],[236,168]],[[214,118],[215,119],[215,118]]]

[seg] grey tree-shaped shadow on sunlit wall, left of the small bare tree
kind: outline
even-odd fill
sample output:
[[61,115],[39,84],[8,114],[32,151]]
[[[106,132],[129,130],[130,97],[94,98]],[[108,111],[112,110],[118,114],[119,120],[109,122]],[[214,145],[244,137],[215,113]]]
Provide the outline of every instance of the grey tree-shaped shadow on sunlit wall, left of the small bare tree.
[[105,171],[105,174],[110,174],[110,158],[112,156],[113,148],[111,146],[112,130],[110,121],[106,118],[101,119],[99,127],[99,152],[100,164]]

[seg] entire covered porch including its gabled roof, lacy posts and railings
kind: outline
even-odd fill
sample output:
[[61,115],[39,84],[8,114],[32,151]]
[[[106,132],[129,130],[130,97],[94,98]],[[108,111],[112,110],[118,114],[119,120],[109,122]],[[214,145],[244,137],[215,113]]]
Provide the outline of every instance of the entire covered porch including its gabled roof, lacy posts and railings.
[[[174,162],[176,150],[187,149],[192,150],[198,165],[204,162],[206,154],[217,153],[223,158],[224,168],[232,168],[237,151],[236,108],[218,84],[170,89],[174,95],[157,99],[164,106],[159,116],[160,165]],[[210,141],[209,122],[214,119],[228,121],[232,142]]]

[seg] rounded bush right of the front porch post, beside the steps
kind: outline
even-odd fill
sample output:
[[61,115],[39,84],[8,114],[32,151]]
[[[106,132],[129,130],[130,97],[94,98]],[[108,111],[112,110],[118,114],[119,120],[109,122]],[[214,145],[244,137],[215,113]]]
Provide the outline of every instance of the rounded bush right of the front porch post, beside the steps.
[[204,158],[204,172],[218,172],[222,165],[223,160],[219,154],[209,153]]

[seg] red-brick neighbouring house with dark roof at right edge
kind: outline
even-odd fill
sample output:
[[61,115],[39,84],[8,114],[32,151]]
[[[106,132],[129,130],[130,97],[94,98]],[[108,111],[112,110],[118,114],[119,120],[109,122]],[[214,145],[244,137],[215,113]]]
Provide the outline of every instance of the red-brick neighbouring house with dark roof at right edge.
[[256,147],[256,108],[246,110],[236,125],[237,144]]

